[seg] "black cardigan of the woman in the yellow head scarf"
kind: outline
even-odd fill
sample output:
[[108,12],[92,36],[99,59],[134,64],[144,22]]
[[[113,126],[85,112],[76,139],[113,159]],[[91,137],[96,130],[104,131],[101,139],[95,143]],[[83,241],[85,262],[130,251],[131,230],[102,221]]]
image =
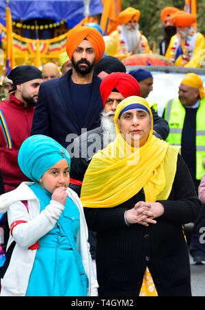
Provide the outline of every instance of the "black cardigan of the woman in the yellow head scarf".
[[182,224],[194,222],[201,202],[184,160],[164,214],[156,224],[127,226],[124,212],[144,201],[143,189],[114,208],[84,208],[87,226],[97,232],[96,265],[99,296],[139,296],[149,268],[159,296],[191,296],[189,251]]

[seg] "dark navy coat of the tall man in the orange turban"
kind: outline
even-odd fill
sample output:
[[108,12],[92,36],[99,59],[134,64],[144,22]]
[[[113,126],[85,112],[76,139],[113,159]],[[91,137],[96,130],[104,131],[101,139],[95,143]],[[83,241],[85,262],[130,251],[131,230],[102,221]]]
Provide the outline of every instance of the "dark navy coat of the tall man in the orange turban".
[[[64,147],[73,141],[68,138],[68,134],[75,134],[77,137],[81,134],[81,128],[86,128],[87,131],[97,128],[100,125],[100,112],[103,109],[100,97],[102,80],[94,73],[90,104],[83,123],[78,123],[68,87],[71,74],[72,70],[69,70],[61,78],[41,84],[31,128],[31,135],[51,136]],[[80,110],[79,113],[81,113]]]

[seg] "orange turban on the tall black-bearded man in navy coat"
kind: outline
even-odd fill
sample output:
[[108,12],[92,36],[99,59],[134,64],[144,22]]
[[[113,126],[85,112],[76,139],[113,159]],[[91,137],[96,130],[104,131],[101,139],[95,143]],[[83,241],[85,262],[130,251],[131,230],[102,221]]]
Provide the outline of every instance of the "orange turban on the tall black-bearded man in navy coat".
[[72,54],[77,46],[84,40],[87,39],[94,48],[96,54],[96,63],[102,58],[105,53],[105,42],[100,32],[92,27],[75,27],[68,33],[66,40],[66,52],[70,60],[72,60]]

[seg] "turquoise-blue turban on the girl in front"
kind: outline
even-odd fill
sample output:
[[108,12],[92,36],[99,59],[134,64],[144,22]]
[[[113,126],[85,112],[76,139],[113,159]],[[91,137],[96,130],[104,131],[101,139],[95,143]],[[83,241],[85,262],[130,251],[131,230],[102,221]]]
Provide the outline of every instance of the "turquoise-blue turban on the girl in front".
[[29,136],[20,146],[18,165],[25,176],[39,181],[47,170],[63,158],[70,167],[70,155],[64,147],[49,136],[36,134]]

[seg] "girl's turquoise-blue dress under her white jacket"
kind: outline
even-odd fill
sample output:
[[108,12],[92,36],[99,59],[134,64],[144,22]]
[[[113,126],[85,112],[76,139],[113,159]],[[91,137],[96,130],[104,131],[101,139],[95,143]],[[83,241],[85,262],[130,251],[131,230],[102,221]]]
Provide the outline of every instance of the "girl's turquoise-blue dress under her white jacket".
[[[30,188],[44,210],[52,194],[38,182]],[[77,249],[79,222],[79,209],[67,198],[57,224],[39,240],[26,296],[87,296],[87,276]]]

